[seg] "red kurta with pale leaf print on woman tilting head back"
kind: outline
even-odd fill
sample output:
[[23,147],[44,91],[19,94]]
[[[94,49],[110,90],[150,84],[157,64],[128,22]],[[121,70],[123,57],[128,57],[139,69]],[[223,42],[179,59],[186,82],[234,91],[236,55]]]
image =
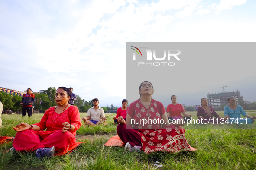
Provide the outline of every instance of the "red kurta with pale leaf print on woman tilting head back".
[[[175,125],[165,126],[161,128],[161,116],[165,114],[165,107],[159,101],[152,99],[149,109],[139,101],[130,104],[127,112],[133,119],[158,119],[159,123],[147,124],[147,129],[142,124],[135,124],[133,129],[139,133],[141,138],[141,145],[145,153],[165,151],[165,152],[179,152],[190,150],[188,142],[185,138],[185,129],[176,127]],[[126,127],[127,128],[127,127]],[[129,129],[130,130],[130,129]],[[121,137],[120,137],[121,139]]]

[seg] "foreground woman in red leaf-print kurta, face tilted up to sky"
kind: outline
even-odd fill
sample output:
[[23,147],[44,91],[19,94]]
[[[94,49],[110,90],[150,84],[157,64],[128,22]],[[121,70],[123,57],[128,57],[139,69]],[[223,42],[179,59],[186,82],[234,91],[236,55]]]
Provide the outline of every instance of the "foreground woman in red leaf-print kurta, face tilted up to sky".
[[[120,123],[117,126],[120,139],[126,143],[126,148],[130,151],[141,149],[141,147],[145,153],[156,151],[175,153],[190,150],[184,135],[185,130],[180,127],[184,124],[170,125],[168,123],[163,104],[151,98],[153,92],[154,89],[150,82],[141,83],[139,86],[141,98],[130,104],[126,121],[122,116],[117,119]],[[143,126],[143,121],[149,119],[154,121]],[[142,123],[140,120],[143,120]]]

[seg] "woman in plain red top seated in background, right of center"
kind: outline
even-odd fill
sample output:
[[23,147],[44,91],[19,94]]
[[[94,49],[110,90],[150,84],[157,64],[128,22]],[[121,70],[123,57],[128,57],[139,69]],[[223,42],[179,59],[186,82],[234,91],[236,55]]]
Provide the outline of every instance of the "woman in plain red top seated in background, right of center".
[[187,114],[181,104],[177,103],[177,97],[172,95],[172,103],[167,106],[167,116],[168,119],[176,119],[176,117],[181,118],[181,113],[184,115],[183,119],[185,122],[191,119],[191,115]]

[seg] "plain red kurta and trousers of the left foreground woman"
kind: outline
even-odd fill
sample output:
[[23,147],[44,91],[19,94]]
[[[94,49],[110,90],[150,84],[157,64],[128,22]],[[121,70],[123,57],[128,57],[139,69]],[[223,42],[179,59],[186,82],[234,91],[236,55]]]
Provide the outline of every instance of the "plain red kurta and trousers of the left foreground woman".
[[[46,110],[41,121],[34,124],[41,128],[40,131],[25,130],[17,132],[13,140],[13,147],[17,151],[34,151],[38,148],[54,146],[55,151],[63,152],[68,149],[68,146],[73,146],[76,141],[76,130],[81,126],[78,108],[71,105],[61,114],[53,113],[53,111],[54,107]],[[64,122],[73,125],[75,127],[74,131],[62,133],[62,123]],[[44,131],[45,129],[46,131]]]

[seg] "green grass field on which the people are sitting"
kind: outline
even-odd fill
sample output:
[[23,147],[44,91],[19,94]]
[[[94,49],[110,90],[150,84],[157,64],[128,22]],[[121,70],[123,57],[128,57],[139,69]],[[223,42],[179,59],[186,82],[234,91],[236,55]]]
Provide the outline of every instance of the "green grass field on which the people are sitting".
[[[196,112],[188,112],[194,118]],[[223,112],[217,112],[223,116]],[[256,111],[248,112],[256,116]],[[87,113],[80,113],[81,118]],[[106,123],[113,122],[115,114],[106,113]],[[2,115],[3,128],[0,136],[15,136],[12,126],[20,122],[38,123],[42,114],[33,114],[32,118],[21,118],[21,115]],[[104,143],[116,133],[116,125],[87,127],[81,126],[77,131],[77,142],[80,145],[68,156],[57,156],[52,159],[36,159],[33,153],[4,153],[12,147],[12,142],[0,145],[0,170],[5,169],[59,169],[59,170],[147,170],[154,169],[152,164],[160,162],[161,170],[255,170],[256,169],[256,129],[222,129],[221,126],[205,125],[204,129],[188,129],[185,135],[188,143],[197,151],[185,151],[177,154],[164,152],[144,154],[130,153],[122,147],[106,147]],[[237,126],[225,126],[236,128]],[[239,126],[242,127],[242,126]]]

